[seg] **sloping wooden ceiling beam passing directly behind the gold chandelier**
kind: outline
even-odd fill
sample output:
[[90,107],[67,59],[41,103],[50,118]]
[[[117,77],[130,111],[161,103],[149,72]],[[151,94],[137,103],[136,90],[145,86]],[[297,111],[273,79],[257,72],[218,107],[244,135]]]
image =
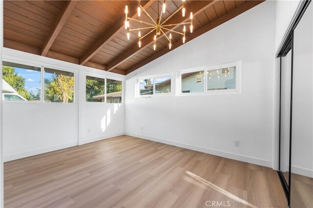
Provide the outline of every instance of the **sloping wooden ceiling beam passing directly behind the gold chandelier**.
[[[188,13],[186,13],[185,17],[182,17],[181,13],[178,12],[170,20],[168,20],[166,24],[176,24],[176,23],[186,22],[189,20],[189,12],[193,12],[193,15],[196,16],[197,14],[201,13],[203,10],[211,6],[215,1],[216,0],[200,0],[200,1],[193,2],[190,6],[186,4],[185,8]],[[179,25],[171,26],[168,28],[174,30],[177,27],[179,27]],[[165,32],[165,34],[167,33],[168,32]],[[107,71],[111,71],[113,68],[115,68],[122,62],[125,62],[126,60],[134,56],[136,53],[138,53],[139,51],[145,49],[150,44],[152,44],[154,35],[155,34],[151,33],[150,35],[142,39],[140,48],[138,47],[138,44],[135,43],[131,49],[129,49],[125,53],[121,54],[120,56],[112,60],[112,62],[110,62],[107,65]],[[162,38],[163,36],[164,35],[158,36],[157,40]]]

